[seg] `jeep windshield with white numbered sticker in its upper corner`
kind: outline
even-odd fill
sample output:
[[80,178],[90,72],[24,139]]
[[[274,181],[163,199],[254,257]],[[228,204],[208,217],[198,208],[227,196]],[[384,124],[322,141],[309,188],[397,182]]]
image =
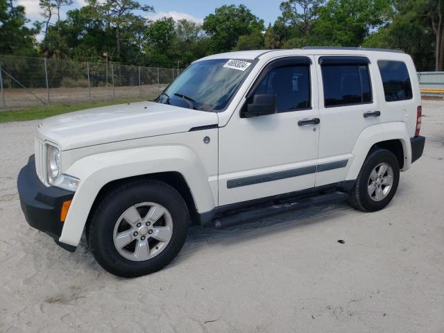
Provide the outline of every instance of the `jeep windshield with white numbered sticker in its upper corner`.
[[213,59],[194,62],[155,102],[210,112],[223,110],[251,68],[253,60]]

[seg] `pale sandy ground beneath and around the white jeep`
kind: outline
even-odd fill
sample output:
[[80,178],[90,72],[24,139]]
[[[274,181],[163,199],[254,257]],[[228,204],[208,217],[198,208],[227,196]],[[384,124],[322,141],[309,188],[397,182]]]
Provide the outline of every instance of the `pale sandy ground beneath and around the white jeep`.
[[444,102],[423,114],[425,153],[385,210],[191,228],[172,264],[133,280],[26,224],[16,178],[37,121],[1,123],[0,332],[444,332]]

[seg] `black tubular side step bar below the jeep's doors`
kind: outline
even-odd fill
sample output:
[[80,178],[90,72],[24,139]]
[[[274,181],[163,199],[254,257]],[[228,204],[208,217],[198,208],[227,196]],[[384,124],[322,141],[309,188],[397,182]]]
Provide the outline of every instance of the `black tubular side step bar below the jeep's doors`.
[[327,194],[321,194],[317,196],[309,196],[305,198],[287,200],[275,205],[267,205],[262,207],[253,207],[250,210],[242,211],[237,214],[229,216],[222,216],[219,219],[215,219],[213,227],[216,229],[230,228],[234,225],[247,223],[257,219],[264,219],[268,216],[282,214],[286,212],[293,212],[295,210],[302,210],[303,208],[316,206],[316,205],[328,205],[331,203],[339,203],[348,199],[348,194],[345,192],[332,192]]

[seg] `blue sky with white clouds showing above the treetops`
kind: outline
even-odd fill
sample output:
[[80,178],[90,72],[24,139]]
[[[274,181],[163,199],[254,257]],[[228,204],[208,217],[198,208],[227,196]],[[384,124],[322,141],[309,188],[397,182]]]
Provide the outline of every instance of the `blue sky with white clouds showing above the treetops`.
[[[173,17],[174,19],[190,19],[201,23],[203,18],[214,12],[214,9],[223,5],[239,5],[244,4],[260,19],[264,19],[266,26],[268,23],[273,24],[280,15],[279,5],[282,0],[139,0],[139,3],[154,7],[155,12],[149,13],[146,17],[151,19],[159,19],[162,17]],[[39,0],[15,0],[15,3],[26,8],[26,17],[42,21],[38,4]],[[74,5],[65,7],[62,15],[65,17],[67,10],[80,8],[85,6],[85,0],[74,0]],[[40,36],[39,40],[42,38]]]

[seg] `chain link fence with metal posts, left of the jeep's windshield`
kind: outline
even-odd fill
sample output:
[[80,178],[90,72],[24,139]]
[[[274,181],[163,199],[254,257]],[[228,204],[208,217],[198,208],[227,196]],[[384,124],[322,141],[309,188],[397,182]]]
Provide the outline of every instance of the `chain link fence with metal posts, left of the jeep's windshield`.
[[112,99],[153,99],[181,71],[112,62],[0,56],[0,110]]

